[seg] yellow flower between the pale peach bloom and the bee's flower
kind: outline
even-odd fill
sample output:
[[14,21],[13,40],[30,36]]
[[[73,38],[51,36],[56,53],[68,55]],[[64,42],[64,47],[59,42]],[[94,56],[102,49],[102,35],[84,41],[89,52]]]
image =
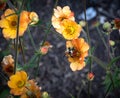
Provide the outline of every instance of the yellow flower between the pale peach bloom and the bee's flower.
[[72,20],[63,20],[61,23],[62,35],[67,40],[76,39],[79,37],[82,27]]

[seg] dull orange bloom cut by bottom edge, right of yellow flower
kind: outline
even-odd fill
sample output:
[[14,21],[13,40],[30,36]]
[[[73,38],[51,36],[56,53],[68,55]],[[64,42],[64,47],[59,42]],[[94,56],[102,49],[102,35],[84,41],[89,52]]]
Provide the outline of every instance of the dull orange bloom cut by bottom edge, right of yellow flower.
[[40,88],[36,85],[34,80],[28,81],[27,89],[20,98],[41,98]]

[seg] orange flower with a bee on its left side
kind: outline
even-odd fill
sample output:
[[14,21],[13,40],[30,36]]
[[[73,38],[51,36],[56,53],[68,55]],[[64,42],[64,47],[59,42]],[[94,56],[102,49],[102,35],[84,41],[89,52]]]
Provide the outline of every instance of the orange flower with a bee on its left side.
[[88,56],[89,45],[83,38],[73,39],[66,42],[66,56],[68,57],[72,71],[81,70],[85,67],[84,59]]

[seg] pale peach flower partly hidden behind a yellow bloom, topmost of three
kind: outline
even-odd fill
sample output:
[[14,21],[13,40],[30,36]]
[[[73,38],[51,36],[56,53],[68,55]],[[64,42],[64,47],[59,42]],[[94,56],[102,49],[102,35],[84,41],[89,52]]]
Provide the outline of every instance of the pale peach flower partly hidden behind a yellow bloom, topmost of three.
[[52,16],[52,25],[56,29],[57,32],[61,32],[61,22],[64,19],[69,19],[74,21],[74,13],[71,12],[69,6],[64,6],[61,8],[60,6],[57,6],[56,9],[54,9],[54,14]]

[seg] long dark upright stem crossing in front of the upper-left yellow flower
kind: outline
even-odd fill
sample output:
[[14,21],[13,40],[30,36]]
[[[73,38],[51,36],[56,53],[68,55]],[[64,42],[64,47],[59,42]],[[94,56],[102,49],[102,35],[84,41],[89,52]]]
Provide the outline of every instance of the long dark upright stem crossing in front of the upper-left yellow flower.
[[16,73],[17,62],[18,62],[19,23],[20,23],[20,14],[18,14],[18,25],[17,25],[16,44],[15,44],[15,67],[14,67],[14,74]]

